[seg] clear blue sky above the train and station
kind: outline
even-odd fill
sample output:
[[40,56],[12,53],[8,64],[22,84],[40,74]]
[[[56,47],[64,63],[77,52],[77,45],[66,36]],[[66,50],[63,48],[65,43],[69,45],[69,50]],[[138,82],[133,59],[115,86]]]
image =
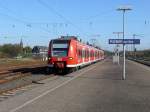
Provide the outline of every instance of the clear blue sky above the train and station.
[[[122,32],[122,13],[116,9],[127,5],[125,38],[141,39],[138,50],[150,48],[149,0],[0,0],[0,45],[19,43],[25,46],[48,46],[61,35],[78,36],[113,50],[108,39]],[[119,38],[122,38],[120,35]],[[127,46],[128,50],[132,46]]]

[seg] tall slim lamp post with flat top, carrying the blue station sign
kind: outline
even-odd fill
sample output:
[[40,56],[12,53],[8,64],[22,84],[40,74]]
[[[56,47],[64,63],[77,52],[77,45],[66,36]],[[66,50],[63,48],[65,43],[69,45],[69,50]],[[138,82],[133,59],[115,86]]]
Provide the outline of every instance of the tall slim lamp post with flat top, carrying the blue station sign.
[[[122,11],[123,13],[123,39],[124,39],[124,16],[125,16],[125,12],[126,11],[130,11],[132,10],[129,6],[123,6],[117,9],[117,11]],[[125,44],[123,44],[123,76],[122,79],[125,80],[126,79],[126,66],[125,66]]]

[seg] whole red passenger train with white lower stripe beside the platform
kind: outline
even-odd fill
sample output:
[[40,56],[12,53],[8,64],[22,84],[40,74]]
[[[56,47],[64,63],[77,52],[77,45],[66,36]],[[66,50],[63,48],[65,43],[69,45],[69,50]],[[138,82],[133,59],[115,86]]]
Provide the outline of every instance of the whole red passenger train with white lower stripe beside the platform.
[[49,43],[48,71],[67,72],[104,59],[100,48],[83,44],[75,36],[61,36]]

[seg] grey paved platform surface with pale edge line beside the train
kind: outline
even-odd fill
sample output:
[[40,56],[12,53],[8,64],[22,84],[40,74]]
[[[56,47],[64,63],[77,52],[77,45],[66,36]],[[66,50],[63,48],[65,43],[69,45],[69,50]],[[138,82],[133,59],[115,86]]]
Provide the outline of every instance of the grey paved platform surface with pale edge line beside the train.
[[44,80],[43,85],[0,102],[0,112],[150,112],[150,68],[111,59],[75,73]]

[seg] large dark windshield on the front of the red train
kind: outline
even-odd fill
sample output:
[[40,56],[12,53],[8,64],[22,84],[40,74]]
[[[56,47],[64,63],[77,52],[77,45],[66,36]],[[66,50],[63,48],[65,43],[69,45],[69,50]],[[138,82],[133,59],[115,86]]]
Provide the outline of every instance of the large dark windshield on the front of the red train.
[[53,40],[52,42],[52,56],[65,57],[68,54],[69,41],[68,40]]

